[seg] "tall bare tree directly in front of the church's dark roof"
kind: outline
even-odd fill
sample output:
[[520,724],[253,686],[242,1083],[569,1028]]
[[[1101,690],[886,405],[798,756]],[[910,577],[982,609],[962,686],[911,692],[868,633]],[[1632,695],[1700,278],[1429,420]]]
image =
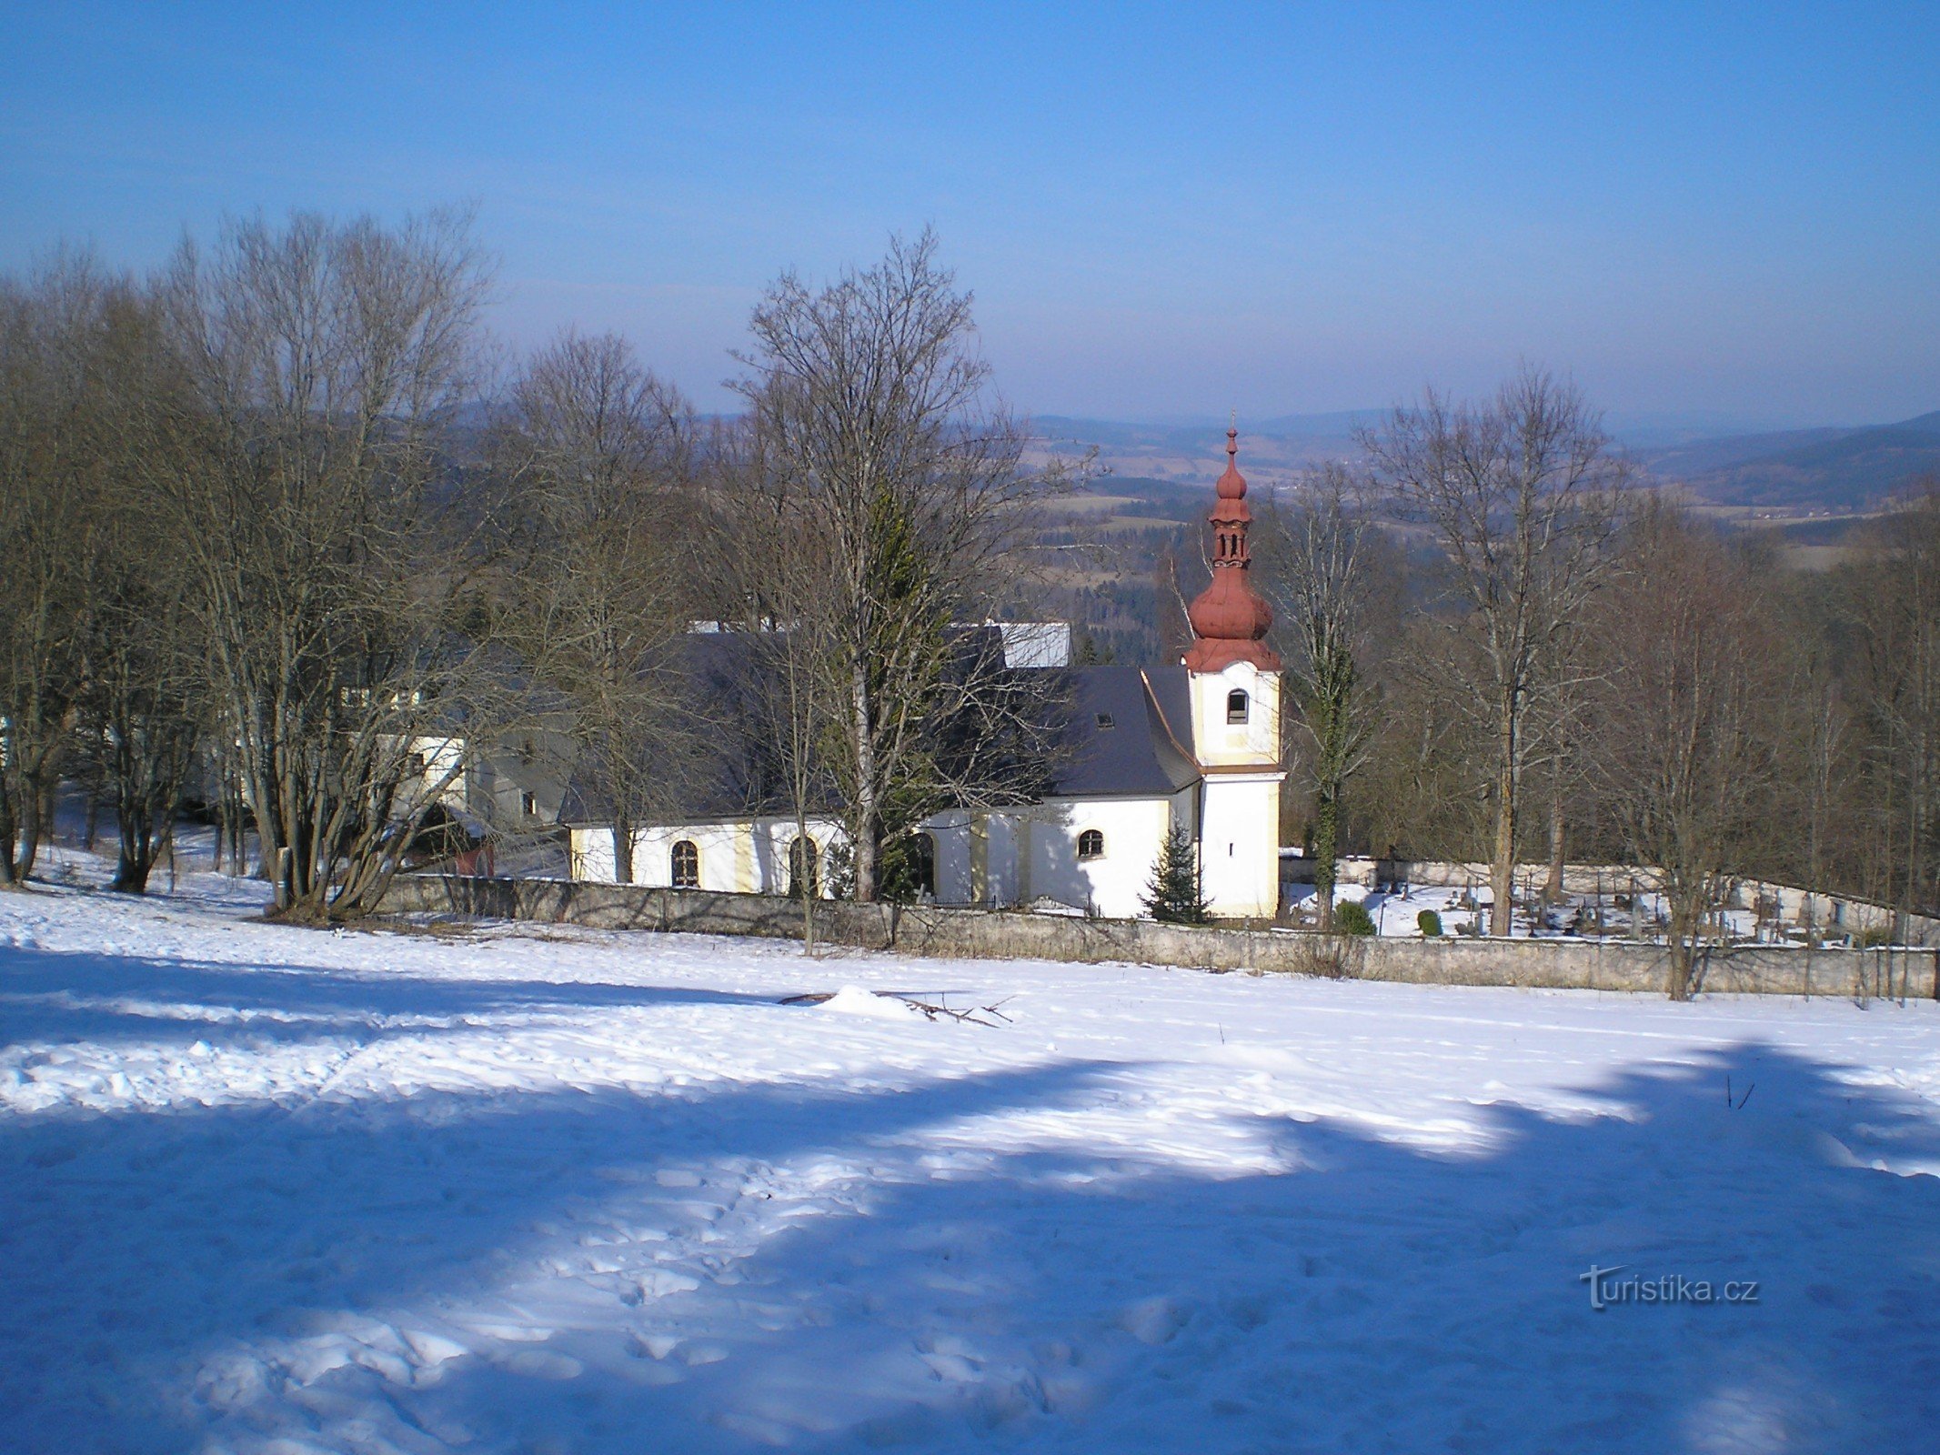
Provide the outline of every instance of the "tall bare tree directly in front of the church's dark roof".
[[966,652],[954,630],[1030,566],[1028,506],[1051,475],[1024,466],[1024,429],[989,402],[970,297],[935,250],[927,233],[894,241],[821,291],[784,275],[755,308],[739,384],[790,528],[826,549],[815,636],[840,700],[832,766],[857,900],[879,896],[885,844],[925,813],[1024,792],[1011,733],[1048,728],[1003,652]]

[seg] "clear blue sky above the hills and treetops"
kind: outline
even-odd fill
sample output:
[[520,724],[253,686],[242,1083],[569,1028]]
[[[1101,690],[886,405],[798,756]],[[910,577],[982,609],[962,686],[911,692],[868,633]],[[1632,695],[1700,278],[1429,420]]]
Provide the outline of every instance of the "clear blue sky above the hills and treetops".
[[704,407],[782,268],[935,225],[1003,392],[1212,417],[1486,388],[1940,407],[1940,6],[0,8],[0,268],[477,206],[493,326]]

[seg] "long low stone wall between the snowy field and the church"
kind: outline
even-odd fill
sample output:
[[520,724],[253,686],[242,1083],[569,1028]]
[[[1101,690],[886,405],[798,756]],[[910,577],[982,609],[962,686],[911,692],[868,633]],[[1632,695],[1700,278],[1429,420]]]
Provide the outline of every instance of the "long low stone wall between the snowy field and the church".
[[[409,875],[384,910],[537,920],[594,929],[801,937],[801,906],[772,894],[592,885],[565,879]],[[898,904],[817,906],[817,937],[832,945],[951,958],[1176,964],[1195,970],[1273,970],[1422,986],[1529,986],[1663,991],[1661,945],[1558,939],[1358,939],[1290,929],[1162,925],[1150,920],[947,910]],[[1713,949],[1699,989],[1773,995],[1940,997],[1940,951]]]

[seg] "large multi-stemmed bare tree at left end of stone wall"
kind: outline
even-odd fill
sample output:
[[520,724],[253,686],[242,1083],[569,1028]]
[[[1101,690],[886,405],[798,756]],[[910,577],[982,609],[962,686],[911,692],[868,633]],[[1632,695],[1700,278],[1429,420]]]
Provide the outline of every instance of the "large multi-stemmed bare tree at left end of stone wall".
[[190,405],[149,483],[182,526],[283,914],[369,912],[489,720],[481,532],[440,446],[483,266],[464,217],[244,221],[163,279]]

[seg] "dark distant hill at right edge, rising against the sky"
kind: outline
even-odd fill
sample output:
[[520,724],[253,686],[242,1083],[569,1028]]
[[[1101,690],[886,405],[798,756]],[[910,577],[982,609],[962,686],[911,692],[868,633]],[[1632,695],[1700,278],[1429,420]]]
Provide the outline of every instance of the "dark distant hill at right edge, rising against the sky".
[[1663,479],[1719,504],[1857,510],[1940,479],[1940,411],[1897,425],[1701,440],[1645,454]]

